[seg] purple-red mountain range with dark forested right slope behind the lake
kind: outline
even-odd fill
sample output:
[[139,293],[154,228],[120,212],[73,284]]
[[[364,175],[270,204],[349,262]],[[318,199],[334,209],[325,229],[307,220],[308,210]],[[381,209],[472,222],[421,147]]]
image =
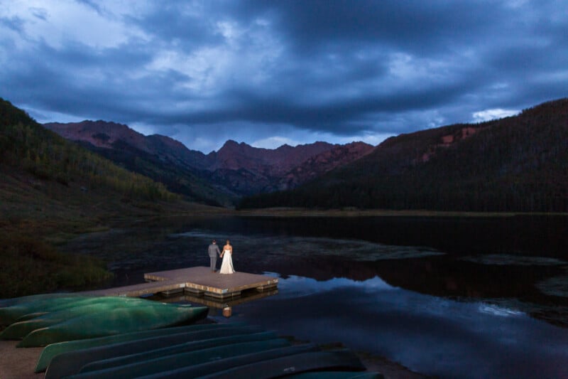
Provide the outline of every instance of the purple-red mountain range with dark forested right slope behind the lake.
[[[400,134],[378,146],[315,142],[259,149],[229,140],[203,154],[114,122],[43,127],[203,205],[568,212],[568,99],[513,117]],[[3,138],[11,146],[13,137]],[[75,175],[45,166],[33,150],[27,154],[28,171],[48,170],[61,183]]]

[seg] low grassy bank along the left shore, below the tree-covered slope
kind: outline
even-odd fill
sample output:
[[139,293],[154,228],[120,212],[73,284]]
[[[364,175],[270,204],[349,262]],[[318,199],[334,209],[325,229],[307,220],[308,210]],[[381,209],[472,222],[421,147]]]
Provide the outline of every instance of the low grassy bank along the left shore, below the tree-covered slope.
[[0,299],[75,291],[110,279],[106,262],[97,257],[60,252],[77,236],[144,218],[207,211],[185,201],[114,196],[104,188],[81,191],[30,174],[6,176],[0,183]]

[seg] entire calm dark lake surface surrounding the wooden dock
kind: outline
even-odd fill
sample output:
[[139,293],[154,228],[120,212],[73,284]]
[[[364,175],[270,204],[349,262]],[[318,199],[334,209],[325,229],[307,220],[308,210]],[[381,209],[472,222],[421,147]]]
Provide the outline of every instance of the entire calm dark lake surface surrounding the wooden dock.
[[441,378],[568,378],[568,218],[168,218],[65,248],[107,259],[115,286],[207,266],[212,238],[280,280],[235,320]]

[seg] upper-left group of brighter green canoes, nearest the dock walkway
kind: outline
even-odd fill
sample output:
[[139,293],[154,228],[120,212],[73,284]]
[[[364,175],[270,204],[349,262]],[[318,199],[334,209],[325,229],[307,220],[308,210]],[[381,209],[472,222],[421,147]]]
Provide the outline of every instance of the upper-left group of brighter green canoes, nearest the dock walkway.
[[0,308],[1,339],[21,339],[18,347],[191,324],[207,307],[164,304],[132,297],[33,297]]

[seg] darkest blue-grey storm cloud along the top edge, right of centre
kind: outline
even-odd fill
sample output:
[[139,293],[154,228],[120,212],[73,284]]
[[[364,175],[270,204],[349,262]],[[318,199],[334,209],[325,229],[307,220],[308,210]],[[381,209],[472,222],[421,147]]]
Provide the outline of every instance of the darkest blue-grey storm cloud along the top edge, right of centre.
[[251,1],[243,14],[273,15],[302,54],[328,48],[376,48],[433,55],[491,36],[506,18],[480,1]]

